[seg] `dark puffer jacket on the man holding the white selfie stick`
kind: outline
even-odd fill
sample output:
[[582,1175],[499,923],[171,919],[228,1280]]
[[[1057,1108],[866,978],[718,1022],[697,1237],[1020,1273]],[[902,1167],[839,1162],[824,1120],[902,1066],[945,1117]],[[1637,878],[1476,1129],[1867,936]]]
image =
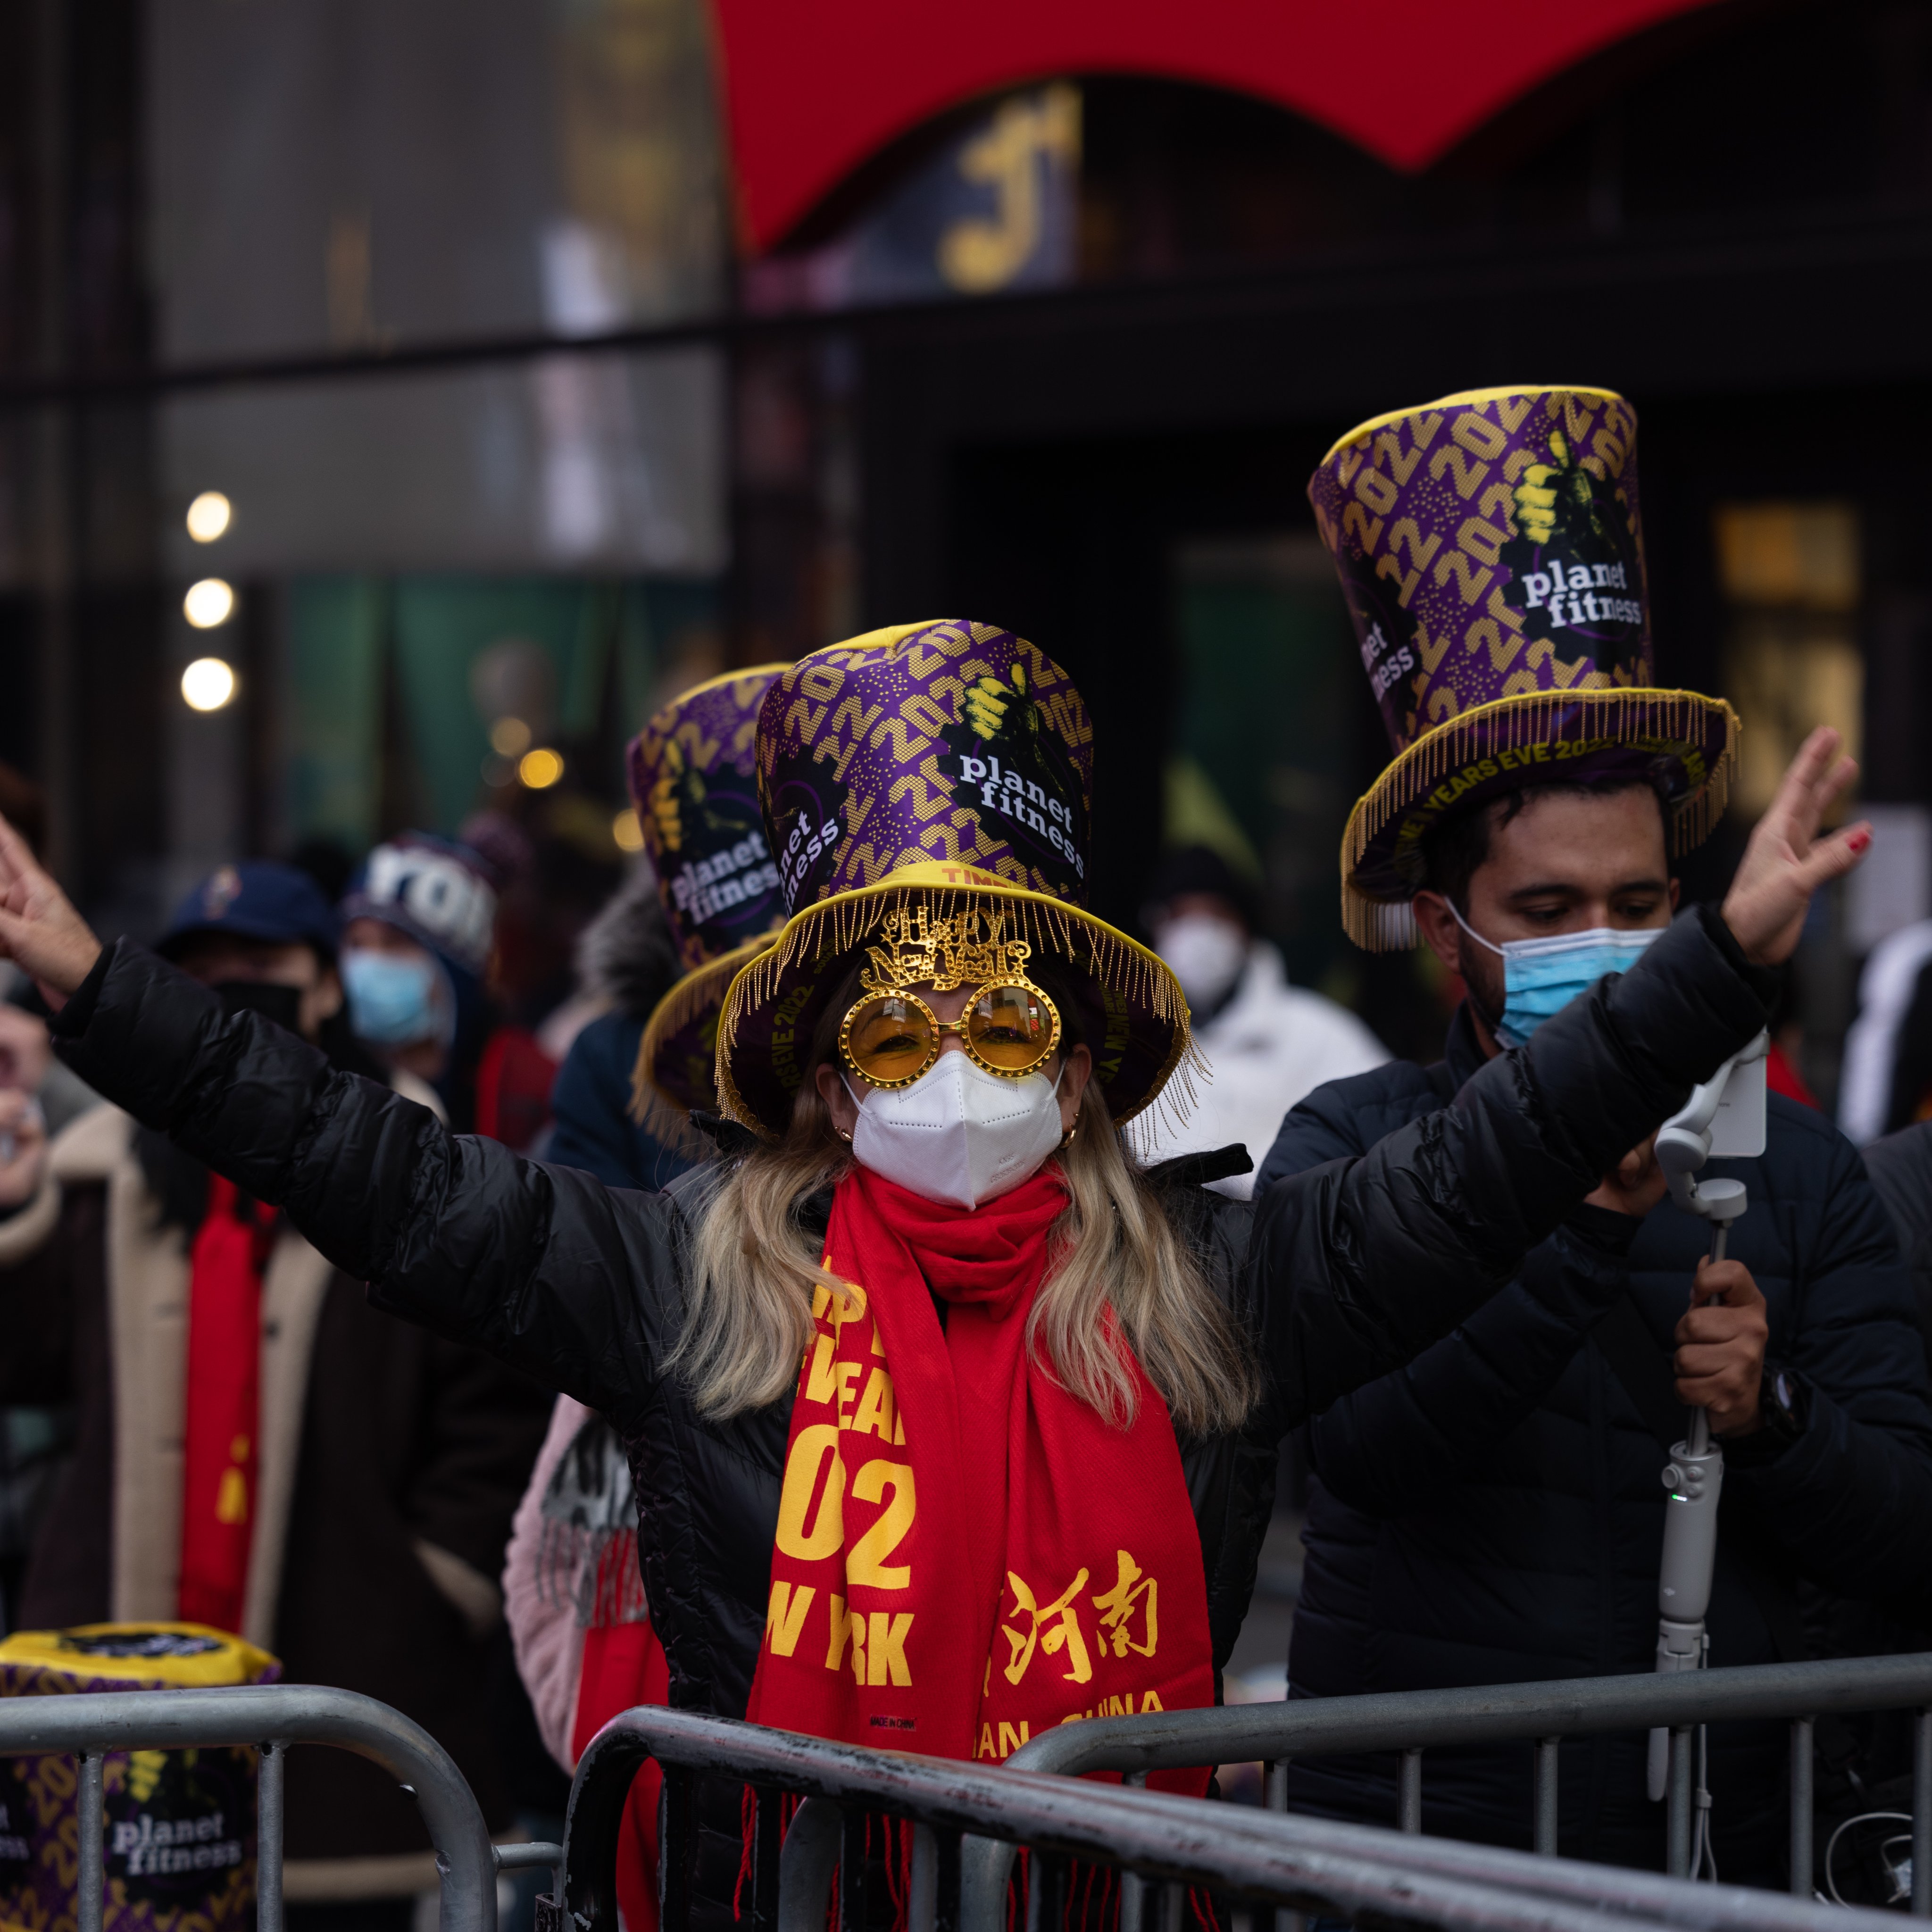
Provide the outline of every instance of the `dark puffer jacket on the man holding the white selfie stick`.
[[[1482,1065],[1461,1012],[1443,1065],[1320,1088],[1283,1122],[1264,1184],[1426,1119]],[[1803,1383],[1795,1441],[1725,1449],[1712,1662],[1766,1663],[1799,1650],[1797,1577],[1870,1598],[1932,1569],[1932,1387],[1884,1209],[1822,1115],[1772,1095],[1764,1157],[1712,1171],[1748,1190],[1729,1252],[1770,1304],[1768,1370]],[[1667,1395],[1671,1331],[1708,1246],[1710,1231],[1669,1202],[1634,1227],[1627,1265],[1559,1233],[1455,1335],[1312,1424],[1293,1694],[1652,1667],[1665,1457],[1605,1358],[1602,1321],[1629,1289]],[[1723,1727],[1712,1748],[1718,1868],[1774,1878],[1781,1727]],[[1561,1795],[1567,1855],[1662,1862],[1642,1737],[1567,1745]],[[1298,1762],[1291,1804],[1387,1824],[1393,1764]],[[1528,1845],[1530,1752],[1430,1752],[1424,1826]]]

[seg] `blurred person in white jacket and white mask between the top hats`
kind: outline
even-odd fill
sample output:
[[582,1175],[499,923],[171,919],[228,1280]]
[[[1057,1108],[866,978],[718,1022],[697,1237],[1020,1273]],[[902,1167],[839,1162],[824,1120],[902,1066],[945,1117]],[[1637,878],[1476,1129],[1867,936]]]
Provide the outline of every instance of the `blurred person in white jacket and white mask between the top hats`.
[[[1387,1049],[1347,1007],[1289,985],[1281,952],[1256,937],[1252,889],[1213,848],[1163,854],[1142,920],[1188,997],[1211,1076],[1186,1124],[1150,1140],[1150,1159],[1238,1144],[1260,1161],[1281,1117],[1310,1088],[1387,1061]],[[1209,1184],[1246,1200],[1254,1171]]]

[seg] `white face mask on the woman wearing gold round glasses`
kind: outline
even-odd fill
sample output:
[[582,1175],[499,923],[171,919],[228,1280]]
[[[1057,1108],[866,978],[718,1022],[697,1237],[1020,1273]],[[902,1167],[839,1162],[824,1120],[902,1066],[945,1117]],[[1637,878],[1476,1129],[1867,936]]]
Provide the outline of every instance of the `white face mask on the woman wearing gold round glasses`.
[[1016,1188],[1065,1132],[1059,1080],[1001,1080],[964,1053],[941,1053],[908,1088],[846,1080],[846,1092],[858,1101],[852,1153],[906,1192],[952,1208]]

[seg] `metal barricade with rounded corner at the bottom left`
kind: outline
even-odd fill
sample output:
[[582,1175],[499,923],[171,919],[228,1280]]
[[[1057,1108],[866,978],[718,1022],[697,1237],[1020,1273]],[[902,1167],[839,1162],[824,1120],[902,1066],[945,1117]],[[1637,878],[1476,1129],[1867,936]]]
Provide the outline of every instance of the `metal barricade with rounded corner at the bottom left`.
[[290,1745],[334,1745],[381,1764],[423,1814],[437,1849],[440,1932],[497,1932],[497,1868],[558,1864],[556,1845],[493,1847],[450,1754],[402,1712],[354,1690],[245,1685],[224,1690],[106,1690],[0,1698],[0,1756],[68,1752],[79,1770],[77,1932],[100,1932],[106,1901],[102,1768],[108,1750],[253,1745],[257,1932],[282,1932],[282,1772]]

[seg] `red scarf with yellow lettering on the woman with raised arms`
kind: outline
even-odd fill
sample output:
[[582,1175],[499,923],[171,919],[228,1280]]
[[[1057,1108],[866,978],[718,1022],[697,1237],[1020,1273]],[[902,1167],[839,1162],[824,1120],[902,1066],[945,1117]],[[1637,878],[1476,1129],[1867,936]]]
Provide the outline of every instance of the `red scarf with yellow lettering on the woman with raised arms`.
[[1053,1167],[976,1209],[838,1182],[846,1289],[819,1291],[798,1378],[755,1723],[1001,1762],[1057,1723],[1213,1702],[1165,1403],[1134,1364],[1115,1428],[1026,1350],[1065,1206]]

